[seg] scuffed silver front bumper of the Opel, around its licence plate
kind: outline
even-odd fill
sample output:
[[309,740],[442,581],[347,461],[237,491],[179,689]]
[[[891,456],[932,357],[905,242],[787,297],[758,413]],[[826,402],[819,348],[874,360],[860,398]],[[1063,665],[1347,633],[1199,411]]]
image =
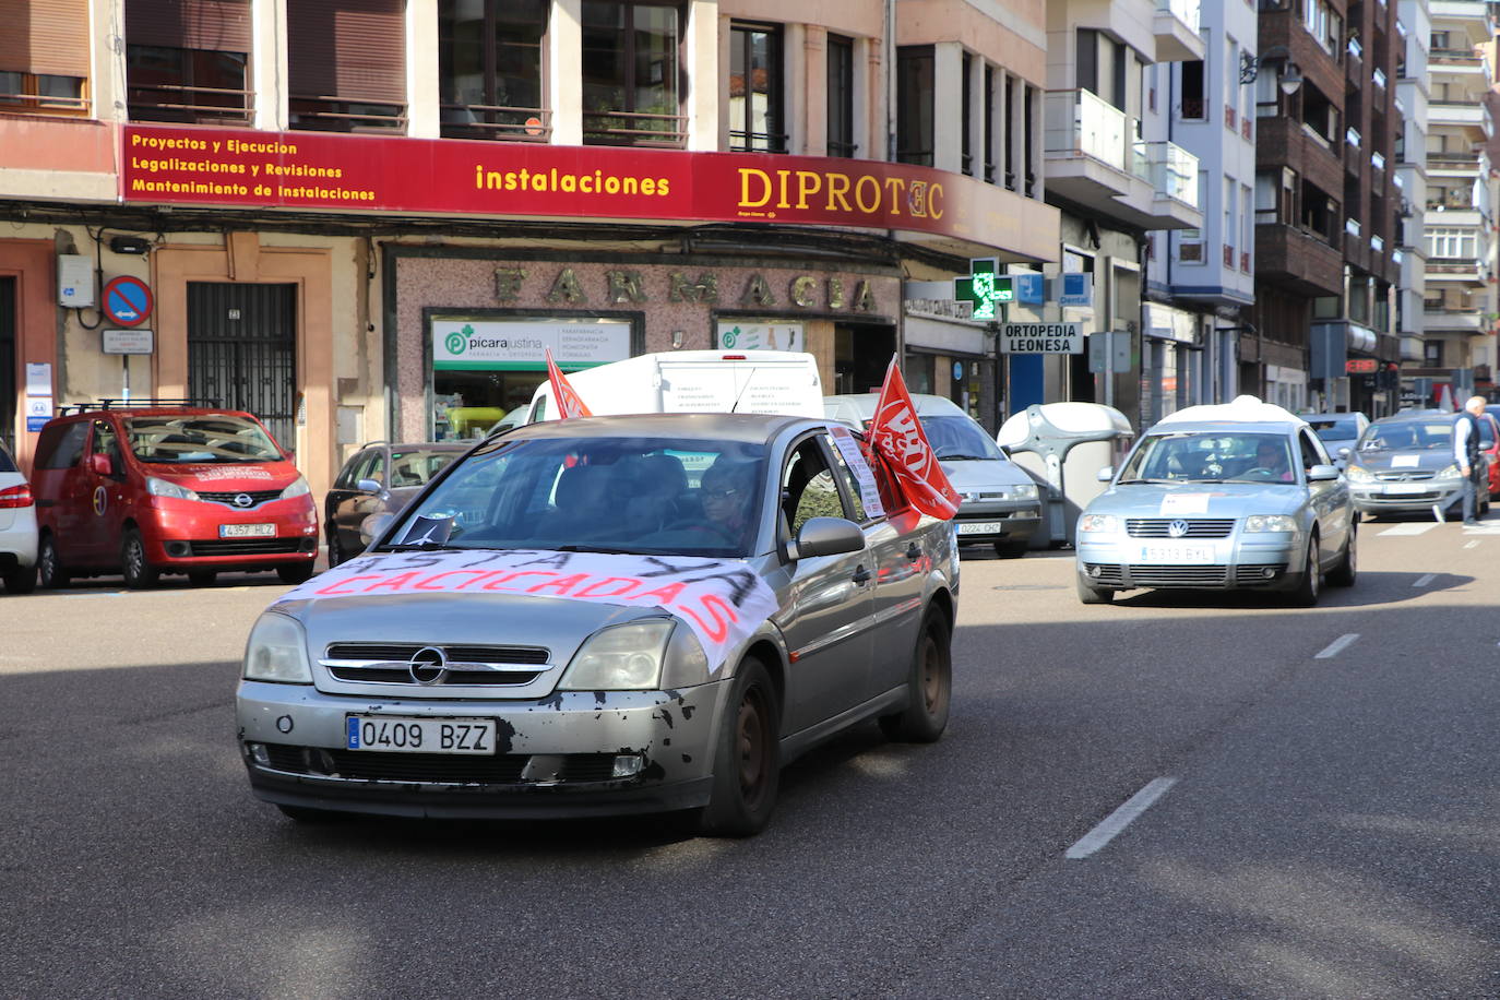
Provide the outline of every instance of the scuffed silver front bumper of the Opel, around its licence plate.
[[[676,691],[562,691],[538,700],[394,700],[243,681],[240,753],[256,798],[386,816],[558,819],[705,805],[726,681]],[[358,715],[495,720],[496,753],[345,748]],[[614,778],[616,757],[640,769]]]

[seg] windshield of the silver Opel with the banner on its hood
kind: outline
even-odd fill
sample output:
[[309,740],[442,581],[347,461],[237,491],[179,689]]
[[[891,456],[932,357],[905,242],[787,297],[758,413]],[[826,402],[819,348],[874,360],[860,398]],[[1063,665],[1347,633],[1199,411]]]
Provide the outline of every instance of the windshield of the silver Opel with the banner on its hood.
[[765,448],[735,441],[498,438],[410,507],[382,549],[436,520],[453,549],[747,556],[764,471]]

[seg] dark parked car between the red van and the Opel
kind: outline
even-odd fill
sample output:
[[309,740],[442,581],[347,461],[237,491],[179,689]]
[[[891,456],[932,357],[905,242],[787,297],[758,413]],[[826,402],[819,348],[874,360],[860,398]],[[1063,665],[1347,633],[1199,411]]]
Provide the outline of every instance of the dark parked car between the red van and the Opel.
[[364,552],[360,532],[368,517],[394,514],[453,459],[472,447],[462,444],[390,444],[372,441],[354,453],[322,501],[328,531],[328,565]]

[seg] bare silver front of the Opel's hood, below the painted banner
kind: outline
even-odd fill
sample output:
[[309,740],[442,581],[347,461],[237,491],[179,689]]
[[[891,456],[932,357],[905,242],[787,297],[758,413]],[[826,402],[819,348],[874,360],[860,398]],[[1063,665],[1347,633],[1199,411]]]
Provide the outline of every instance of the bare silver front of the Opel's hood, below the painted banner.
[[324,657],[328,645],[417,643],[540,646],[548,663],[567,666],[578,648],[604,625],[662,616],[657,607],[622,607],[525,594],[392,594],[322,597],[272,606],[308,630],[308,651]]

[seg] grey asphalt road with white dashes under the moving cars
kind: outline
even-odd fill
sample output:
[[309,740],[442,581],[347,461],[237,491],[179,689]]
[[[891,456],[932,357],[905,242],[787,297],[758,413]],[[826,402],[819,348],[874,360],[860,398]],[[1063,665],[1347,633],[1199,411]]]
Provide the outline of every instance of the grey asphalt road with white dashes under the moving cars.
[[298,826],[234,750],[286,588],[0,595],[0,997],[1500,997],[1497,556],[1366,522],[1310,610],[964,559],[946,738],[746,841]]

